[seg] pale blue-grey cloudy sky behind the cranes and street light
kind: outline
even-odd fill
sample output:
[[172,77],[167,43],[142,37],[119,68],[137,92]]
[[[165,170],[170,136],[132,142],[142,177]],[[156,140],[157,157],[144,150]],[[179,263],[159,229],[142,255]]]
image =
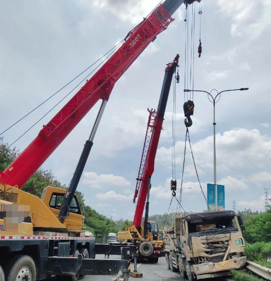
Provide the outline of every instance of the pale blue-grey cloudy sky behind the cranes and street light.
[[[1,132],[103,57],[158,3],[158,0],[3,1],[0,9]],[[195,7],[198,12],[199,4]],[[221,91],[249,87],[248,91],[223,93],[216,105],[217,180],[225,185],[226,209],[231,209],[235,200],[238,210],[262,211],[263,188],[270,187],[271,193],[271,3],[202,0],[202,11],[203,52],[201,58],[196,52],[194,88]],[[177,53],[180,82],[176,87],[176,178],[180,186],[186,134],[184,15],[182,5],[174,14],[175,21],[116,83],[79,183],[78,190],[84,194],[86,204],[114,220],[133,217],[132,198],[147,108],[157,108],[165,65]],[[93,68],[88,72],[91,70]],[[4,140],[13,143],[79,81],[3,134]],[[17,148],[22,151],[71,95],[17,141]],[[213,107],[207,95],[199,92],[194,94],[194,103],[190,136],[206,194],[207,183],[213,183]],[[100,103],[42,166],[52,169],[62,183],[68,184],[72,177],[99,107]],[[171,121],[172,87],[152,177],[150,214],[167,212],[171,199]],[[206,209],[189,150],[183,187],[192,188],[183,192],[186,211]],[[173,201],[170,210],[176,207]]]

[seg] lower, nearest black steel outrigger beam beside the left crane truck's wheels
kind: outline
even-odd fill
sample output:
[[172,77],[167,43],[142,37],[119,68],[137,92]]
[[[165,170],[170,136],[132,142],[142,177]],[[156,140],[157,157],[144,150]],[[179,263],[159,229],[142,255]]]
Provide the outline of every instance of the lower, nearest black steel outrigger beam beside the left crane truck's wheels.
[[48,275],[117,275],[120,270],[130,268],[131,261],[124,259],[92,259],[78,257],[49,257]]

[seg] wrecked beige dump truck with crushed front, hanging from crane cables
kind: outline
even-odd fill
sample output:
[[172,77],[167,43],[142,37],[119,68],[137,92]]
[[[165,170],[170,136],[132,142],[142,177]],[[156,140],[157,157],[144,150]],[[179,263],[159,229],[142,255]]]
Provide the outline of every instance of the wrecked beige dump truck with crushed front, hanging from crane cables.
[[233,211],[183,214],[163,229],[167,268],[189,281],[230,275],[246,264],[243,225]]

